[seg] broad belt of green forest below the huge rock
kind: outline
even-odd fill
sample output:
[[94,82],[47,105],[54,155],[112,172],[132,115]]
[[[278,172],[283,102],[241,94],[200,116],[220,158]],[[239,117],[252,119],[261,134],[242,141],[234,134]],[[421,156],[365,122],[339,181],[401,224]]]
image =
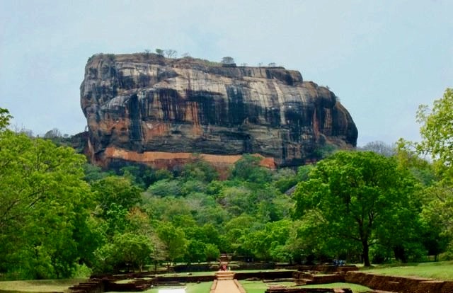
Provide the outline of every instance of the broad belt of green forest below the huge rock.
[[0,108],[0,280],[236,260],[386,263],[453,258],[453,91],[420,106],[421,142],[329,149],[270,170],[251,155],[229,176],[194,154],[173,170],[101,170],[9,127]]

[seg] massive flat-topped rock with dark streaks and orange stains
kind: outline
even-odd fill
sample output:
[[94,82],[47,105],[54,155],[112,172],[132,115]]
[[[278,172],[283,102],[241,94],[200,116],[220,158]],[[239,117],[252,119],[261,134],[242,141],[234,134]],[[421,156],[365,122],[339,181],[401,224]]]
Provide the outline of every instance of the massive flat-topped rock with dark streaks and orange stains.
[[350,148],[357,141],[335,94],[283,67],[97,54],[85,67],[81,108],[91,159],[104,164],[165,165],[190,153],[230,162],[248,153],[297,166],[326,144]]

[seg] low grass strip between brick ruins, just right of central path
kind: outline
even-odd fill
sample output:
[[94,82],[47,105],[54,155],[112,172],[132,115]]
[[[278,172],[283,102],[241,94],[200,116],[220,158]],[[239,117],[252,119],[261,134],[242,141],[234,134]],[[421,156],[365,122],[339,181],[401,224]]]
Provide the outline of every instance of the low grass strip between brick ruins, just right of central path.
[[288,287],[300,287],[300,288],[351,288],[352,292],[360,293],[367,292],[370,289],[368,287],[350,284],[350,283],[332,283],[322,285],[304,285],[296,286],[294,282],[277,282],[277,283],[263,283],[261,281],[240,281],[243,289],[246,289],[247,293],[264,293],[265,289],[268,289],[268,285],[285,285]]

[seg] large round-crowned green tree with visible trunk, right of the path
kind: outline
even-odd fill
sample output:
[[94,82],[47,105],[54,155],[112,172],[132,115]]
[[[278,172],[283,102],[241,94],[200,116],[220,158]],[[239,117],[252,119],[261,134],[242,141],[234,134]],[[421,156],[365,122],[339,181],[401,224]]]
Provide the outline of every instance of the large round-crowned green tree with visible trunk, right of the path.
[[[415,180],[394,159],[370,151],[340,151],[320,161],[294,193],[294,216],[316,215],[328,240],[362,246],[370,265],[369,247],[391,234],[404,239],[416,222]],[[348,244],[349,245],[349,244]]]

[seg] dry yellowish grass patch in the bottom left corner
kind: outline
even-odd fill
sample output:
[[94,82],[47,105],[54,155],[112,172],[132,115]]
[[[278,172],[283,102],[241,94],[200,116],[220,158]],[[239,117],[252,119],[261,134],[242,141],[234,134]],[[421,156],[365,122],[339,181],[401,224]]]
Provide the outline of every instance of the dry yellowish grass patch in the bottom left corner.
[[30,280],[0,282],[0,292],[62,292],[87,279]]

